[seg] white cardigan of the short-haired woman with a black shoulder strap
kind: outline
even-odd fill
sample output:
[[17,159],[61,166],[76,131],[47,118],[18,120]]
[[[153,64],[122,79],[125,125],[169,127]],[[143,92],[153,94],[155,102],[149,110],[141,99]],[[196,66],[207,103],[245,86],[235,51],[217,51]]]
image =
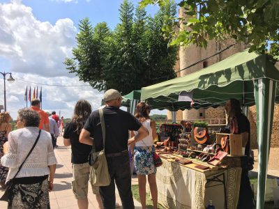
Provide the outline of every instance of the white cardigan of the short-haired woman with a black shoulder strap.
[[[38,137],[38,127],[24,127],[8,134],[8,153],[1,157],[1,164],[10,168],[6,182],[15,176]],[[50,174],[49,165],[57,164],[52,148],[52,137],[42,130],[38,143],[24,162],[16,178],[45,176]]]

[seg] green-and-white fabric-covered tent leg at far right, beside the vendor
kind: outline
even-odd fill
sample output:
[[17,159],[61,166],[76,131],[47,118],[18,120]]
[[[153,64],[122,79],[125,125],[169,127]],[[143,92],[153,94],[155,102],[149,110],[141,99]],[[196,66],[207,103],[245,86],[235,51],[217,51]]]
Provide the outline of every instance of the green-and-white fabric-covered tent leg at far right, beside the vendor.
[[257,209],[264,209],[276,86],[277,82],[267,78],[254,81],[257,107],[257,142],[259,144]]

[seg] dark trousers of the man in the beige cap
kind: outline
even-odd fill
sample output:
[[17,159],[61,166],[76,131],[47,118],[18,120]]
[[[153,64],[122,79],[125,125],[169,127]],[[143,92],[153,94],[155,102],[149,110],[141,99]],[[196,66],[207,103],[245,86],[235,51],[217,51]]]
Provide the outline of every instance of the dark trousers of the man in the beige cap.
[[128,153],[117,157],[107,157],[107,167],[109,168],[112,181],[109,186],[100,187],[103,208],[115,208],[115,181],[123,209],[134,209],[135,206],[131,190],[131,173]]

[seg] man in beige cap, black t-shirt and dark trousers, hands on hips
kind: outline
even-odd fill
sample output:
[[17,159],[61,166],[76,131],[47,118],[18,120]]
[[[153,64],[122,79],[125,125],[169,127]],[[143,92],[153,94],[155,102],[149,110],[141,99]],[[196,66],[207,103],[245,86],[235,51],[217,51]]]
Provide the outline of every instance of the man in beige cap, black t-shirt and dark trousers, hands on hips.
[[[100,195],[104,209],[115,207],[115,185],[119,191],[124,209],[135,208],[131,191],[130,161],[128,144],[133,144],[144,139],[148,130],[137,121],[132,114],[119,109],[121,106],[121,94],[110,89],[105,92],[106,107],[103,108],[105,118],[105,153],[111,183],[109,186],[100,187]],[[128,131],[138,132],[135,137],[128,139]],[[96,151],[103,150],[103,136],[98,111],[93,111],[87,119],[80,134],[80,142],[96,146]],[[91,137],[93,138],[91,138]]]

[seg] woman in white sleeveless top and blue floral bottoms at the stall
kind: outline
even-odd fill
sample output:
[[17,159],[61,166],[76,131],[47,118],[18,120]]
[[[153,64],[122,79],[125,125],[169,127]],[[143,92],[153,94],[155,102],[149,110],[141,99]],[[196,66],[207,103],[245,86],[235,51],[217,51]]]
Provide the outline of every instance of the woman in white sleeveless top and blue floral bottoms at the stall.
[[[153,146],[153,139],[156,139],[156,123],[149,117],[150,107],[149,104],[140,102],[137,104],[135,117],[142,123],[147,130],[149,130],[149,136],[135,143],[132,146],[132,155],[135,156],[135,172],[139,180],[139,193],[140,202],[142,208],[146,208],[146,175],[149,181],[149,187],[151,191],[153,208],[157,208],[158,190],[156,184],[156,167],[153,162],[153,153],[155,148]],[[134,137],[137,132],[130,132],[131,137]]]

